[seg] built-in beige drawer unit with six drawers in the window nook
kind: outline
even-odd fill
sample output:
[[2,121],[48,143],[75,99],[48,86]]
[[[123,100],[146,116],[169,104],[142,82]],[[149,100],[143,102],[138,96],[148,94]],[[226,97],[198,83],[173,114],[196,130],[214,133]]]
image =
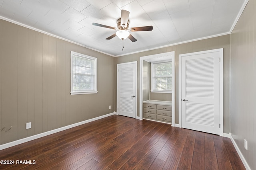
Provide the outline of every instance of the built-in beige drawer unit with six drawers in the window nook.
[[172,106],[164,105],[165,101],[158,101],[156,104],[143,104],[143,117],[166,123],[172,122]]

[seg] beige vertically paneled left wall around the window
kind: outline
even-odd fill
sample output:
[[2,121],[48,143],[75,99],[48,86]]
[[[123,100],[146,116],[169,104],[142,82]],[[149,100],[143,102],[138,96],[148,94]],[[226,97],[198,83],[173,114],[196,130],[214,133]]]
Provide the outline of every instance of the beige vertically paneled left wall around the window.
[[[98,58],[98,94],[70,95],[70,51]],[[0,144],[114,112],[114,60],[0,20]]]

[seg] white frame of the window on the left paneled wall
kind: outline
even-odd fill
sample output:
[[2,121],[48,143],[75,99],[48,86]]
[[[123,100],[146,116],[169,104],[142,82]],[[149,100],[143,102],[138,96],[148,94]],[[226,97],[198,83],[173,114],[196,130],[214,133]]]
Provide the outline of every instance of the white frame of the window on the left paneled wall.
[[[73,90],[73,57],[81,57],[84,59],[88,59],[91,61],[94,61],[93,69],[94,69],[94,88],[92,90]],[[97,58],[91,57],[88,55],[76,53],[74,51],[71,51],[71,95],[76,94],[95,94],[97,93]]]

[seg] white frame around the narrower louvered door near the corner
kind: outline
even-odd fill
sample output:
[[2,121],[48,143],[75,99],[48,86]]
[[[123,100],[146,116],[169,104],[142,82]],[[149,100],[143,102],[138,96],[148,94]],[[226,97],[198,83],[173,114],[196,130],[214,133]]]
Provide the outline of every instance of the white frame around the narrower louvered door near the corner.
[[[135,69],[135,84],[136,84],[136,87],[135,87],[135,97],[134,97],[134,100],[136,101],[135,102],[135,118],[137,119],[137,88],[138,88],[138,83],[137,83],[137,79],[138,79],[138,74],[137,74],[137,70],[138,70],[138,64],[137,64],[137,61],[132,61],[132,62],[128,62],[128,63],[120,63],[120,64],[117,64],[116,65],[116,69],[118,68],[118,66],[120,65],[125,65],[125,64],[136,64],[136,69]],[[119,106],[119,101],[118,101],[118,70],[116,70],[117,74],[116,74],[116,113],[118,114],[118,106]]]

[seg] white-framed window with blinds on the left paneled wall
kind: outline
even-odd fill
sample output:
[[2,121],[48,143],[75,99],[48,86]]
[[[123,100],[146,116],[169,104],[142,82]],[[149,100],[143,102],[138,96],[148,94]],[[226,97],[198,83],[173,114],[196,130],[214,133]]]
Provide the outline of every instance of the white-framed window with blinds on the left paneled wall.
[[71,51],[70,94],[97,92],[97,58]]

